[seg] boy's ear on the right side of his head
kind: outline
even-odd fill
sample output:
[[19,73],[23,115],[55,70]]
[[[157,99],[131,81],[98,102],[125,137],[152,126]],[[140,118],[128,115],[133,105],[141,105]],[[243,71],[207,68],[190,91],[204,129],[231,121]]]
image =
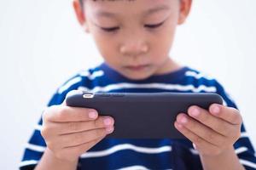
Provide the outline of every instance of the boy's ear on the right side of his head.
[[180,9],[179,9],[179,18],[178,18],[178,24],[181,25],[184,23],[184,21],[187,19],[192,0],[179,0],[180,1]]

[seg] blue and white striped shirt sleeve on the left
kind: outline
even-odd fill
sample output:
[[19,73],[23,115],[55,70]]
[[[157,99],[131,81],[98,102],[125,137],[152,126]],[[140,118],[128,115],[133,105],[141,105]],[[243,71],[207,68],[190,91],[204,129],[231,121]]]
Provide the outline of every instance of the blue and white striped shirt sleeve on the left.
[[[49,100],[49,104],[47,106],[60,105],[64,101],[67,93],[73,89],[78,89],[80,84],[81,84],[81,77],[79,76],[72,77],[67,82],[65,82],[61,86],[61,88],[58,88],[58,90]],[[46,144],[44,142],[44,138],[40,133],[41,128],[42,128],[42,117],[40,117],[38,124],[33,130],[32,137],[29,139],[29,141],[26,144],[26,148],[25,148],[22,160],[20,161],[20,164],[19,164],[20,170],[34,169],[37,166],[38,161],[40,161],[41,157],[43,156],[44,150],[46,149]]]

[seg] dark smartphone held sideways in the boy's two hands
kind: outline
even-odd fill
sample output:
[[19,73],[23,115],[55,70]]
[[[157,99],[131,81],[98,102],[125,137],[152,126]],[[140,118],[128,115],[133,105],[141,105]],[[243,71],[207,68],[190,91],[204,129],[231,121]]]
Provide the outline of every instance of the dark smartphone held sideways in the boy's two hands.
[[95,93],[76,91],[66,98],[68,106],[93,108],[100,116],[112,116],[114,131],[107,138],[183,139],[174,127],[178,113],[191,105],[207,109],[223,104],[218,94],[204,93]]

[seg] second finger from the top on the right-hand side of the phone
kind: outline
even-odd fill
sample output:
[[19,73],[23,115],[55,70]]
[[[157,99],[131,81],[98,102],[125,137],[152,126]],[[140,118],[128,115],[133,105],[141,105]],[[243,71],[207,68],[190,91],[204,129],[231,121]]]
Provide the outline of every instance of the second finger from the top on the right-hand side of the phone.
[[188,111],[189,116],[192,116],[197,121],[203,123],[207,127],[212,128],[217,133],[220,133],[224,136],[230,136],[233,132],[234,127],[230,122],[226,122],[221,118],[212,116],[208,111],[201,109],[198,106],[189,107]]

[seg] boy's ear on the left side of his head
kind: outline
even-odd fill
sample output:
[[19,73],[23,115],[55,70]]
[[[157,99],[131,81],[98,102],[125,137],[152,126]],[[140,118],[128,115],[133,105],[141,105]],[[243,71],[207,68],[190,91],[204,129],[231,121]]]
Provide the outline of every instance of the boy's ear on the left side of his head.
[[79,0],[73,0],[73,8],[74,8],[75,14],[77,16],[77,19],[79,20],[79,24],[81,26],[83,26],[84,31],[89,33],[90,31],[87,26],[87,23],[85,20],[85,15],[84,15],[84,10],[83,10],[84,7],[81,6],[81,3],[79,2]]

